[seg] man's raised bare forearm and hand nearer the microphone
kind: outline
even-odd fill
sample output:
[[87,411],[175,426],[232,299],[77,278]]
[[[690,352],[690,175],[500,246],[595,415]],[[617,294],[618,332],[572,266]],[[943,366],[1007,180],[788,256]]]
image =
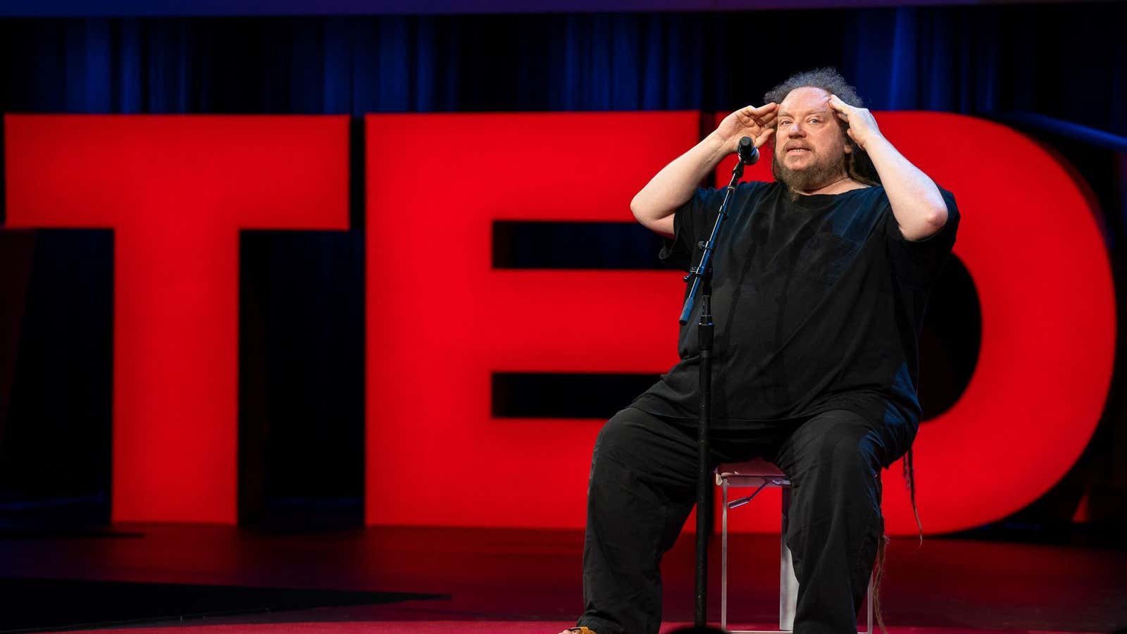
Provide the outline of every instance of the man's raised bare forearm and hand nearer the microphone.
[[673,237],[673,215],[692,197],[696,186],[724,157],[736,151],[742,137],[751,137],[758,148],[766,142],[774,124],[775,104],[758,108],[747,106],[724,118],[720,125],[691,150],[662,168],[630,201],[638,222],[664,236]]

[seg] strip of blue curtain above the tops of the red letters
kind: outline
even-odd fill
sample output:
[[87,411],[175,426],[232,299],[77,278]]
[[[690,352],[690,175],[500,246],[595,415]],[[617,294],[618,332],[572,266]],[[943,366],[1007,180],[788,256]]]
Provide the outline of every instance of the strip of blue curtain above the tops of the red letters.
[[[870,107],[1127,135],[1116,3],[746,14],[9,19],[12,112],[725,111],[835,65]],[[1097,52],[1097,47],[1099,51]]]

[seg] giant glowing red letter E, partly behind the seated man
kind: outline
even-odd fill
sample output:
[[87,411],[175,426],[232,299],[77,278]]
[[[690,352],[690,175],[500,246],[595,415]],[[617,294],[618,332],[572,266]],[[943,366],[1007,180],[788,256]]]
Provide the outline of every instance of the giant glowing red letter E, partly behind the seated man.
[[664,372],[681,273],[495,271],[491,222],[632,222],[698,115],[366,121],[367,522],[583,526],[602,421],[492,419],[490,372]]

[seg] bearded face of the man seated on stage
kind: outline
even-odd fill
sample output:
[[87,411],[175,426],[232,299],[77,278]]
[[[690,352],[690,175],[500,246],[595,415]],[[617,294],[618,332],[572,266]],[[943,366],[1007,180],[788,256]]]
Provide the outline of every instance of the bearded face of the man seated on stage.
[[824,187],[846,176],[846,147],[829,94],[796,88],[779,104],[772,170],[793,190]]

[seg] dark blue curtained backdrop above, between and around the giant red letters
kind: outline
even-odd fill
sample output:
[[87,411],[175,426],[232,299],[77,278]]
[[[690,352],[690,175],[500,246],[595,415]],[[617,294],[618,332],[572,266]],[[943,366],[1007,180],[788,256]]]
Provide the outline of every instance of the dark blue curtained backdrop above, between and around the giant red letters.
[[[1070,3],[3,19],[0,111],[727,112],[758,104],[791,72],[835,65],[873,109],[994,117],[1054,146],[1099,199],[1118,272],[1127,174],[1125,17],[1116,3]],[[358,123],[354,127],[358,147]],[[354,156],[354,170],[358,161]],[[296,509],[301,522],[361,517],[363,190],[355,180],[353,231],[247,232],[242,239],[240,509],[248,523],[283,521],[286,509]],[[112,238],[105,231],[0,231],[0,249],[23,263],[0,272],[8,306],[0,326],[9,333],[0,338],[0,518],[104,521]],[[76,354],[76,341],[97,343]],[[1122,520],[1121,366],[1084,458],[1011,526],[1066,522],[1084,494],[1095,516]]]

